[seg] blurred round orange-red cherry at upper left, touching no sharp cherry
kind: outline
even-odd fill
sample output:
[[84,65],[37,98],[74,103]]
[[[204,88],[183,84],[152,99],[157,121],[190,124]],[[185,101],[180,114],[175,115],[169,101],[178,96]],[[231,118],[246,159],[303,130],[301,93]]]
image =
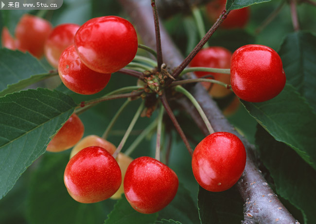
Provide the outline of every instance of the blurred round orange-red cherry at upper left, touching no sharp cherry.
[[17,48],[40,58],[44,53],[44,43],[51,33],[51,23],[43,18],[25,14],[19,20],[15,36]]

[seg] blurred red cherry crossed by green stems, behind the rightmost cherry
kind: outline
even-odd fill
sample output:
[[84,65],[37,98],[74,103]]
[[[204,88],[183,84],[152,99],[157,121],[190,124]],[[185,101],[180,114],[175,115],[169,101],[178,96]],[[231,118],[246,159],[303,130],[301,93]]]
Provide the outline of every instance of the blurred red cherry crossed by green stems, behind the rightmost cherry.
[[[209,47],[200,50],[190,62],[191,67],[209,67],[216,69],[230,68],[231,52],[223,47]],[[200,78],[205,75],[212,75],[215,80],[230,84],[230,75],[222,73],[213,73],[205,71],[195,71],[195,75]],[[210,78],[211,79],[211,78]],[[211,83],[203,82],[202,85],[209,89]],[[217,84],[214,84],[210,90],[210,94],[215,98],[227,96],[231,91]]]

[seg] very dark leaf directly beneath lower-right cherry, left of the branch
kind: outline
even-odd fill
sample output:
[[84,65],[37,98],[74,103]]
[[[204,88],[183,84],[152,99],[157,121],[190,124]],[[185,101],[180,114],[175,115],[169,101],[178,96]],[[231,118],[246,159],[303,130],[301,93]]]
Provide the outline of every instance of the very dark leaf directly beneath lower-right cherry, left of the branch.
[[201,224],[239,224],[243,220],[243,201],[235,188],[223,192],[199,188],[198,207]]

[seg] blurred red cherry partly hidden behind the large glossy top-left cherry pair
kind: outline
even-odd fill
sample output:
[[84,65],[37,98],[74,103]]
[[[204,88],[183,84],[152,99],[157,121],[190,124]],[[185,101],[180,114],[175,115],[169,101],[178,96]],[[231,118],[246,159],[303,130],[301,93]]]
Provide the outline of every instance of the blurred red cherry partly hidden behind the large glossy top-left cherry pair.
[[48,36],[45,45],[44,53],[47,61],[54,67],[58,67],[58,59],[61,53],[74,43],[74,35],[79,29],[78,24],[64,23],[53,28],[53,31]]

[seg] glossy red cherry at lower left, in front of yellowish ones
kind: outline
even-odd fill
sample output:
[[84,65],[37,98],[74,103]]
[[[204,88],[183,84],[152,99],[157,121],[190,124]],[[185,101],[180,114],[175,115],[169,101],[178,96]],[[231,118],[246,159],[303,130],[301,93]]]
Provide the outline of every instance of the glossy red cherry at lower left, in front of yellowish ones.
[[87,147],[68,162],[64,182],[70,196],[81,203],[95,203],[111,197],[122,182],[115,158],[99,146]]

